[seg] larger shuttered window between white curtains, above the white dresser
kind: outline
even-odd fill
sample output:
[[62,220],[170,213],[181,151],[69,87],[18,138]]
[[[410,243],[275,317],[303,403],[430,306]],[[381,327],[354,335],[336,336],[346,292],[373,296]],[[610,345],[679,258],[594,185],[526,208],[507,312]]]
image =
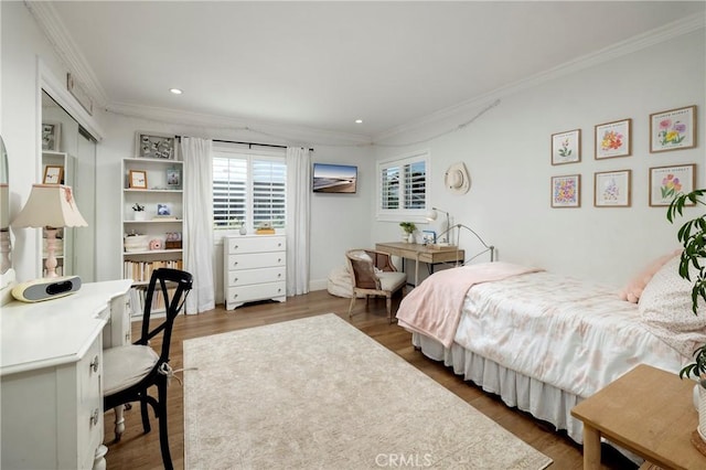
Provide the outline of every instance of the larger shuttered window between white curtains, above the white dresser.
[[261,222],[284,228],[287,210],[284,154],[234,149],[213,152],[213,224],[216,231],[252,231]]

